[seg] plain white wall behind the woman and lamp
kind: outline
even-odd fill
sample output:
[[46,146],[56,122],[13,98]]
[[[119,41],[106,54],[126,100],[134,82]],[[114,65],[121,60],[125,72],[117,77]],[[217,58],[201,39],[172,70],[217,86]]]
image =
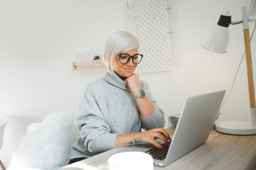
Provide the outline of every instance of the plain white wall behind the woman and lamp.
[[[244,51],[242,25],[230,26],[230,44],[225,55],[204,50],[201,42],[218,22],[220,13],[229,10],[233,21],[240,20],[241,7],[247,1],[168,3],[169,23],[174,32],[172,70],[140,75],[149,82],[166,118],[180,113],[188,96],[230,90]],[[77,113],[85,86],[102,77],[106,69],[72,72],[71,62],[75,61],[76,53],[87,50],[102,56],[108,36],[125,30],[126,5],[126,0],[0,1],[0,114],[10,117],[0,152],[6,166],[29,123],[59,110]],[[251,30],[253,26],[250,23]],[[253,47],[255,39],[255,62]],[[250,120],[249,109],[243,62],[220,120]],[[23,130],[16,132],[18,128]],[[12,140],[16,145],[10,145]]]

